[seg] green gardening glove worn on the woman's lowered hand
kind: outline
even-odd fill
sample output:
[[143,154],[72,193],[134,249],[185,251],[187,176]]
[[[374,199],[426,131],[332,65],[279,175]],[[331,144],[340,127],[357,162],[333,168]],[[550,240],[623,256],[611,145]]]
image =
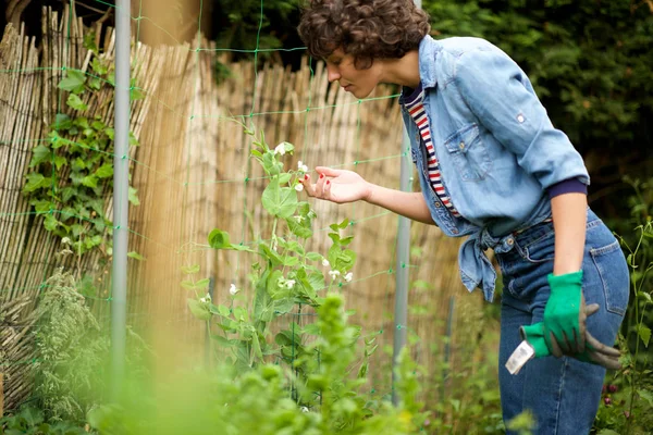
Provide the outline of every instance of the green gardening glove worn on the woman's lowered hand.
[[582,271],[549,275],[551,296],[544,308],[544,341],[556,357],[582,353],[586,347]]

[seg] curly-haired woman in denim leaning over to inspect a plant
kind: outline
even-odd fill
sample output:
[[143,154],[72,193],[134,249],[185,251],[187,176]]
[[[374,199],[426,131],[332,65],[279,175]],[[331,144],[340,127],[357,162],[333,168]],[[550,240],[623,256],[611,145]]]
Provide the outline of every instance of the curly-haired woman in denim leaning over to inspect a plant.
[[[325,60],[330,82],[357,98],[380,83],[403,87],[421,192],[323,166],[315,183],[305,177],[305,190],[336,203],[378,204],[449,236],[469,235],[460,276],[489,301],[496,276],[483,251],[493,248],[504,279],[504,420],[530,409],[540,434],[589,433],[605,376],[600,364],[616,361],[616,350],[602,343],[614,344],[628,304],[624,254],[588,208],[582,158],[552,125],[519,66],[485,40],[434,40],[429,29],[411,0],[308,4],[298,30],[310,53]],[[512,375],[504,364],[522,336],[541,358]]]

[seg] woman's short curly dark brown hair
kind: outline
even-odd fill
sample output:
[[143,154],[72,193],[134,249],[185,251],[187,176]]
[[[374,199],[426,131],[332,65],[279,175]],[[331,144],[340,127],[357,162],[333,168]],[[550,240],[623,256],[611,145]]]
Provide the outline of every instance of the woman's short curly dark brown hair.
[[430,28],[412,0],[309,0],[298,32],[312,57],[325,59],[342,48],[357,69],[368,69],[377,58],[417,49]]

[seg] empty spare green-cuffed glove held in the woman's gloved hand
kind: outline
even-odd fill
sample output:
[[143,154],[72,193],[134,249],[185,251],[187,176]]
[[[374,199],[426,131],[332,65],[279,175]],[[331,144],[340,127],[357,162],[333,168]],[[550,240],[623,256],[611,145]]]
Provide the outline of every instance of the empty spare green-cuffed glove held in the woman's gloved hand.
[[[584,316],[586,319],[596,311],[599,311],[599,304],[592,303],[584,308]],[[615,349],[609,346],[605,346],[603,343],[599,341],[594,338],[587,328],[586,333],[586,349],[581,353],[572,353],[569,355],[580,361],[590,362],[592,364],[603,365],[606,369],[611,370],[619,370],[621,364],[619,363],[620,352],[618,349]],[[521,338],[528,341],[528,344],[535,351],[535,358],[546,357],[549,355],[553,355],[552,348],[549,348],[546,340],[544,339],[544,323],[535,323],[534,325],[525,325],[519,328],[519,334],[521,334]],[[559,345],[556,343],[556,339],[552,339],[553,347],[559,349]]]

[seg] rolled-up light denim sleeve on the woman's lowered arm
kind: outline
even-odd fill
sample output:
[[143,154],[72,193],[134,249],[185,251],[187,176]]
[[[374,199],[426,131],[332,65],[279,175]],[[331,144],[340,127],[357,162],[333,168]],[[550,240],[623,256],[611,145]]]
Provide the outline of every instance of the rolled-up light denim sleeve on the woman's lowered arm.
[[456,61],[454,83],[488,130],[515,153],[544,189],[565,179],[589,185],[582,157],[555,128],[521,69],[498,49],[477,49]]

